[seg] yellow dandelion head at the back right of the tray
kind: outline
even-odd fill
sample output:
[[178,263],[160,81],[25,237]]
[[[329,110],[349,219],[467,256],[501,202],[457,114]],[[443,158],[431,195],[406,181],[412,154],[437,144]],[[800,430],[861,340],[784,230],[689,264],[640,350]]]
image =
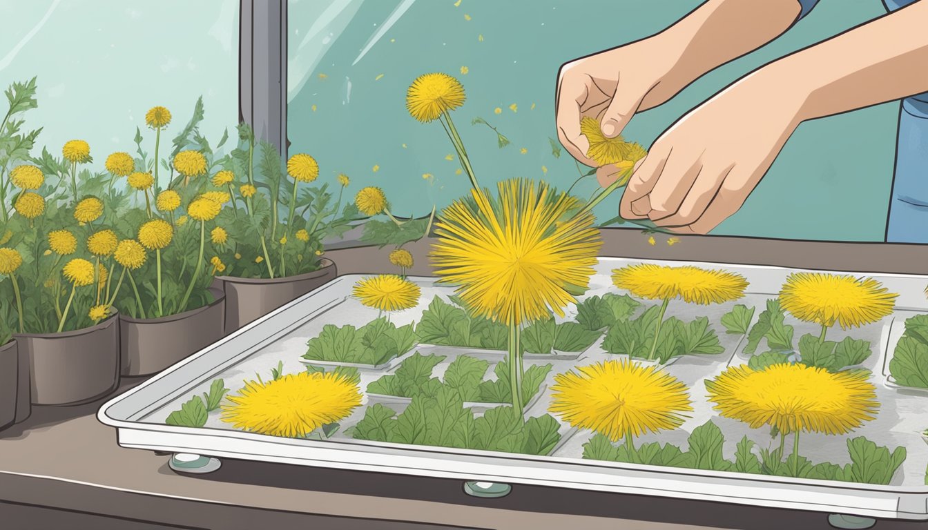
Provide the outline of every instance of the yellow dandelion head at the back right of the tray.
[[846,330],[888,317],[897,296],[873,278],[798,272],[786,278],[780,304],[800,320]]

